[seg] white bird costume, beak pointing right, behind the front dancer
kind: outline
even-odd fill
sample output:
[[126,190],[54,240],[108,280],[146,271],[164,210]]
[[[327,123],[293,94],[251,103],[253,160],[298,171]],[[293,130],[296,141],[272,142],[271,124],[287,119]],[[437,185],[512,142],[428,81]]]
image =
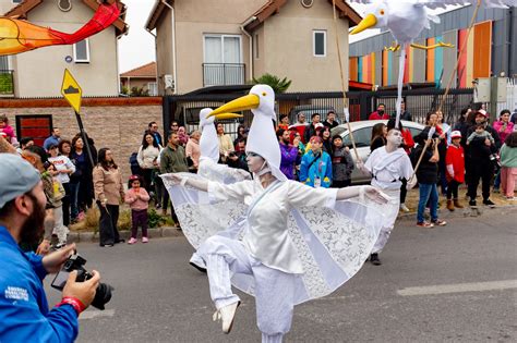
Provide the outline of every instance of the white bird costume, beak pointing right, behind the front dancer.
[[226,164],[218,164],[219,161],[219,139],[214,121],[223,119],[241,118],[241,114],[220,113],[208,117],[213,110],[204,108],[200,111],[200,130],[202,135],[200,138],[200,167],[197,174],[211,181],[217,181],[225,184],[251,179],[250,173],[241,169],[230,168]]

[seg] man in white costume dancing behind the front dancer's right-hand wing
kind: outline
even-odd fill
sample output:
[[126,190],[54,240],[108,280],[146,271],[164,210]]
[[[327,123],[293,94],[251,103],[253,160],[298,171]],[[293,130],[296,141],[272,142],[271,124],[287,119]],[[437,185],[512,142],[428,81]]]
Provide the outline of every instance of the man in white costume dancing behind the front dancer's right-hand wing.
[[[392,128],[386,137],[386,145],[373,150],[364,164],[359,168],[372,175],[372,186],[382,189],[389,196],[387,211],[384,213],[385,221],[378,234],[378,240],[373,246],[370,261],[380,266],[378,253],[386,245],[392,230],[397,220],[398,209],[400,207],[400,186],[401,179],[410,180],[413,174],[413,168],[408,154],[400,148],[402,135],[397,128]],[[414,183],[409,184],[412,187]]]

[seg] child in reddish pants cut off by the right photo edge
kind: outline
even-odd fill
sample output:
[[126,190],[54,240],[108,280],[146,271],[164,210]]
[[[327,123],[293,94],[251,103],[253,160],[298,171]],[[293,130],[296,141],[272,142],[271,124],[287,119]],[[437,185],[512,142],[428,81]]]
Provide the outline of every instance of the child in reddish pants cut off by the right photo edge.
[[517,132],[506,136],[501,147],[501,187],[508,200],[515,200],[515,179],[517,179]]

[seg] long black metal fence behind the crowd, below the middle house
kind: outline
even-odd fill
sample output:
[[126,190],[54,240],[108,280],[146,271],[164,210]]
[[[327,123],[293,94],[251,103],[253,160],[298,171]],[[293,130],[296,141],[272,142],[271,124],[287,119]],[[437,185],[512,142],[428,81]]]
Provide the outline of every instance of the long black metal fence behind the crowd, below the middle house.
[[[231,94],[201,94],[201,95],[179,95],[164,98],[164,125],[170,127],[172,121],[178,121],[185,126],[188,132],[196,130],[199,126],[200,111],[203,108],[217,108],[225,102],[231,101],[248,91]],[[402,93],[407,103],[407,109],[411,112],[416,122],[423,123],[428,112],[436,110],[444,96],[444,89],[425,88],[409,89]],[[452,89],[442,107],[445,120],[455,123],[462,108],[472,105],[472,89]],[[347,93],[350,121],[366,120],[378,103],[385,103],[386,110],[395,111],[397,99],[396,90],[381,91],[349,91]],[[288,114],[290,122],[296,122],[299,112],[304,112],[308,121],[313,113],[320,113],[325,120],[328,111],[334,111],[340,123],[345,122],[344,101],[341,91],[326,93],[286,93],[276,96],[275,110],[279,114]],[[241,120],[224,121],[225,132],[237,135],[239,124],[251,125],[253,114],[251,111],[243,111]],[[167,130],[166,130],[167,131]]]

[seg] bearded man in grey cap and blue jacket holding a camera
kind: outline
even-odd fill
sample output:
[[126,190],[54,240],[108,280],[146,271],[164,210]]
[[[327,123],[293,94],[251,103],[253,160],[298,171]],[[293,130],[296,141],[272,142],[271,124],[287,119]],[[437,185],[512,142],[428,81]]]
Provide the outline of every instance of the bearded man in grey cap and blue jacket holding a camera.
[[43,279],[58,272],[73,254],[69,245],[45,257],[23,253],[19,244],[38,242],[45,204],[38,172],[21,157],[0,154],[0,342],[72,342],[77,317],[92,303],[100,275],[75,282],[70,273],[62,302],[48,309]]

